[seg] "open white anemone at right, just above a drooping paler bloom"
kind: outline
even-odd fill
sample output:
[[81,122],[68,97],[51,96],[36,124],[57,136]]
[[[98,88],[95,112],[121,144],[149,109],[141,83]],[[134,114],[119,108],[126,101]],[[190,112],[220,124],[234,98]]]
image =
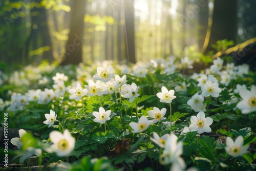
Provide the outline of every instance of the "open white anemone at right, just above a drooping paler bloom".
[[219,88],[219,84],[217,82],[212,83],[211,81],[206,81],[205,85],[201,87],[202,95],[204,97],[212,96],[219,97],[221,93],[221,89]]

